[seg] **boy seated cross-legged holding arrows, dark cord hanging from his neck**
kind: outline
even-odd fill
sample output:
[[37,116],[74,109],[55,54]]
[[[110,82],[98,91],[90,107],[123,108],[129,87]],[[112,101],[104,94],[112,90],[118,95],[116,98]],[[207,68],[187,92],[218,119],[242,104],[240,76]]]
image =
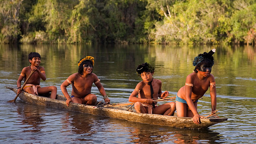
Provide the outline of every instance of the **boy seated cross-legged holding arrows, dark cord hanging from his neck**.
[[[159,115],[171,116],[175,112],[175,102],[166,103],[157,106],[154,100],[160,97],[164,99],[169,96],[169,92],[162,92],[162,82],[158,79],[153,79],[155,68],[149,63],[140,64],[137,69],[137,75],[143,81],[136,85],[135,90],[129,97],[129,101],[135,103],[134,108],[139,113],[153,113]],[[136,97],[138,95],[138,97]]]

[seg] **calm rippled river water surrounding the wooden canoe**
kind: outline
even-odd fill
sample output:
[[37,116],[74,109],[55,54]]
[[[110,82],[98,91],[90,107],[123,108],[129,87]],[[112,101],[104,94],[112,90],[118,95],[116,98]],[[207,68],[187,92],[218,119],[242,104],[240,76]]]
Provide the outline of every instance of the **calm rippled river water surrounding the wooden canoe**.
[[[155,66],[154,78],[162,90],[176,95],[192,72],[192,61],[199,53],[216,48],[212,74],[216,80],[219,117],[228,121],[204,130],[179,129],[133,123],[109,117],[71,112],[26,104],[19,98],[7,103],[15,93],[28,54],[38,52],[45,68],[41,87],[60,85],[77,72],[77,62],[95,57],[95,73],[111,103],[128,102],[141,78],[137,65]],[[68,87],[71,93],[71,86]],[[97,87],[92,93],[102,100]],[[0,45],[0,143],[256,143],[256,48],[251,46],[172,46],[172,45]],[[162,102],[164,103],[164,102]],[[159,103],[161,104],[161,103]],[[211,111],[209,90],[198,103],[199,113]]]

